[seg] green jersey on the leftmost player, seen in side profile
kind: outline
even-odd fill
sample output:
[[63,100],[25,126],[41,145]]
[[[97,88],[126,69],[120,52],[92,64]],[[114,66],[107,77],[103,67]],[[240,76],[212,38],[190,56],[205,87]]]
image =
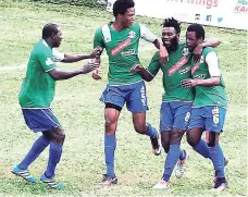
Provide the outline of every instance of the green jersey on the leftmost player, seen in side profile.
[[18,95],[22,108],[49,108],[54,97],[55,81],[48,74],[55,67],[52,49],[38,41],[28,60],[26,77]]

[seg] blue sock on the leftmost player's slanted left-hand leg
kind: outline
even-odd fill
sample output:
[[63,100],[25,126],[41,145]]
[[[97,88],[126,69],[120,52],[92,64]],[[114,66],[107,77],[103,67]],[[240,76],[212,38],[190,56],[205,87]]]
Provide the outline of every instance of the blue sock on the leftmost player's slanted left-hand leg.
[[35,159],[44,151],[44,149],[49,145],[49,140],[42,135],[34,143],[29,152],[23,159],[23,161],[17,165],[18,169],[26,170],[28,165],[35,161]]

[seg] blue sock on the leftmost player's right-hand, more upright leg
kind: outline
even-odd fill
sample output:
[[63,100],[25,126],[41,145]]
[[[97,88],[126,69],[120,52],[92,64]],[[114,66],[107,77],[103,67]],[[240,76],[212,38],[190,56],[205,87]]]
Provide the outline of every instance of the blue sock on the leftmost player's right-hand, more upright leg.
[[55,167],[60,162],[63,145],[51,141],[49,150],[48,167],[45,172],[46,177],[53,177],[55,174]]

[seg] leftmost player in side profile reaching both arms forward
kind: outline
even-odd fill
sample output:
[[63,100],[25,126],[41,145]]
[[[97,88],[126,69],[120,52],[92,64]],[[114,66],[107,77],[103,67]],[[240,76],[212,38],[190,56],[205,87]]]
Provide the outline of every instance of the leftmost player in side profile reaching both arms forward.
[[12,169],[12,173],[30,183],[37,183],[27,168],[50,145],[48,165],[40,180],[51,188],[63,189],[64,185],[54,181],[55,167],[60,162],[65,133],[59,120],[52,113],[50,103],[54,97],[55,81],[72,78],[87,74],[99,66],[98,63],[88,63],[74,71],[61,71],[55,65],[55,59],[64,62],[74,62],[84,58],[94,58],[99,52],[94,50],[90,56],[65,54],[53,57],[52,49],[59,47],[62,40],[61,28],[55,24],[47,24],[42,29],[42,39],[30,52],[27,63],[26,77],[23,81],[18,101],[27,126],[35,133],[42,135],[34,143],[26,157]]

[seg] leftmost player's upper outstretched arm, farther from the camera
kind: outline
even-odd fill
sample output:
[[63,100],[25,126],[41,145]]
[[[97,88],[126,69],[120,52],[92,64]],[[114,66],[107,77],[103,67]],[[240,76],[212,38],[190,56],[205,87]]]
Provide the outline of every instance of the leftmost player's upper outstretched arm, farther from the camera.
[[73,62],[78,62],[80,60],[85,60],[85,59],[92,59],[96,58],[97,56],[99,56],[99,53],[101,53],[102,48],[101,47],[96,47],[89,54],[70,54],[70,53],[65,53],[64,54],[64,59],[62,60],[62,62],[64,63],[73,63]]

